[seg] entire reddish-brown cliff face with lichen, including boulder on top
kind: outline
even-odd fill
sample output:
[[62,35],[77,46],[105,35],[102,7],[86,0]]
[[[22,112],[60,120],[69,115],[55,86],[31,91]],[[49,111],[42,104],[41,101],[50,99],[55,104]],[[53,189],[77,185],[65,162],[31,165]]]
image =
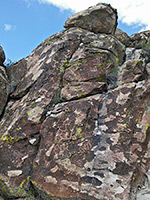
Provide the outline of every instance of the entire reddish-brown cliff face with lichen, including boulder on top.
[[2,199],[150,198],[150,31],[116,26],[98,4],[0,67]]

